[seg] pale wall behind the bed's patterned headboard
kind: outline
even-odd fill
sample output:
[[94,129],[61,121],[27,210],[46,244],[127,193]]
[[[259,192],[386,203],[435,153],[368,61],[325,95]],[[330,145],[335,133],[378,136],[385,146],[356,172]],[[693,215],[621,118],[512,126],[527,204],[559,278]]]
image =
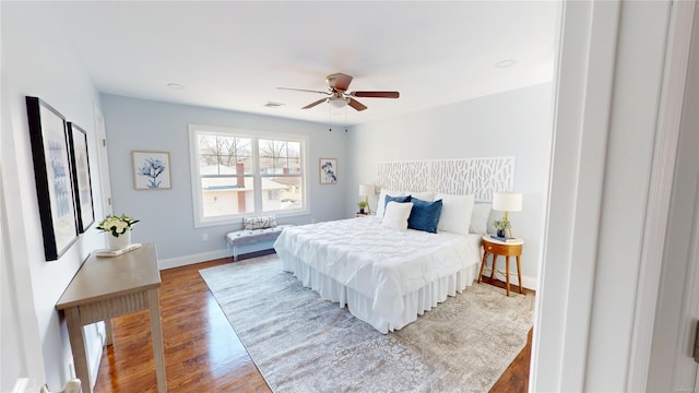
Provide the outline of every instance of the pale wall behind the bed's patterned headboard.
[[[518,88],[350,130],[346,216],[354,216],[359,183],[374,183],[379,160],[514,156],[514,190],[522,212],[512,231],[526,242],[522,282],[536,288],[544,236],[552,146],[550,83]],[[376,210],[376,199],[371,202]],[[491,217],[501,213],[494,212]],[[514,282],[517,282],[517,278]]]

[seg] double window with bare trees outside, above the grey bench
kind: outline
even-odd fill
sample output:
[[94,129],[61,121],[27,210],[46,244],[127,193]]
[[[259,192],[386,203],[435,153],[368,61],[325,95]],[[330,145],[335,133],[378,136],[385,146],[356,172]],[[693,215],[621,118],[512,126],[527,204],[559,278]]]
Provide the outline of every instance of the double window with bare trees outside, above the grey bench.
[[194,124],[189,133],[196,226],[306,212],[305,138]]

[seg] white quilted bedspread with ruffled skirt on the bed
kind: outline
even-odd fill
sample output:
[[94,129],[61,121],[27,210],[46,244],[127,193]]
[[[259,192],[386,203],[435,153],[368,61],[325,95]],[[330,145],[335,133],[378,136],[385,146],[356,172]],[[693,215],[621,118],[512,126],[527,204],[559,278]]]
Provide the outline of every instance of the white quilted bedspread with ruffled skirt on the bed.
[[386,333],[473,283],[481,235],[398,231],[362,217],[287,228],[274,249],[305,286]]

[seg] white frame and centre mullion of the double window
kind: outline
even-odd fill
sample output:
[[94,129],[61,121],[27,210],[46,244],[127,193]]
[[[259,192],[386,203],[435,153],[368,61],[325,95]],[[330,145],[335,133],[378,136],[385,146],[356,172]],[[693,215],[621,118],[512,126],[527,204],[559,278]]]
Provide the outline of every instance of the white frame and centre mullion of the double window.
[[[309,205],[309,195],[308,195],[308,136],[293,134],[293,133],[279,133],[279,132],[266,132],[260,130],[248,130],[248,129],[238,129],[233,127],[221,127],[221,126],[206,126],[206,124],[189,124],[189,163],[191,170],[191,181],[192,181],[192,212],[194,217],[194,227],[209,227],[215,225],[230,225],[235,223],[239,223],[245,216],[254,216],[254,215],[263,215],[263,214],[274,214],[276,217],[288,217],[296,215],[308,214],[308,205]],[[239,136],[239,138],[250,138],[252,140],[252,181],[254,184],[254,212],[247,213],[236,213],[222,215],[216,217],[204,217],[203,212],[203,200],[202,200],[202,189],[201,189],[201,172],[199,167],[199,145],[198,145],[198,135],[199,134],[222,134],[228,136]],[[288,210],[280,210],[280,211],[262,211],[262,175],[259,170],[259,140],[270,139],[277,141],[293,141],[300,142],[300,153],[301,153],[301,162],[303,162],[303,170],[301,170],[301,194],[303,203],[298,209],[288,209]]]

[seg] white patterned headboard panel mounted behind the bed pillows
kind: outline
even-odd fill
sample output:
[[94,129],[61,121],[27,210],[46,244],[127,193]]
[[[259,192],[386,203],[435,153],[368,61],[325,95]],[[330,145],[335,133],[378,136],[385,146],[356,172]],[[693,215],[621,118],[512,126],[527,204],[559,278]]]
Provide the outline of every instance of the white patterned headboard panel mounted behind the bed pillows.
[[490,202],[495,191],[512,191],[514,157],[379,162],[376,183],[388,190],[474,194]]

